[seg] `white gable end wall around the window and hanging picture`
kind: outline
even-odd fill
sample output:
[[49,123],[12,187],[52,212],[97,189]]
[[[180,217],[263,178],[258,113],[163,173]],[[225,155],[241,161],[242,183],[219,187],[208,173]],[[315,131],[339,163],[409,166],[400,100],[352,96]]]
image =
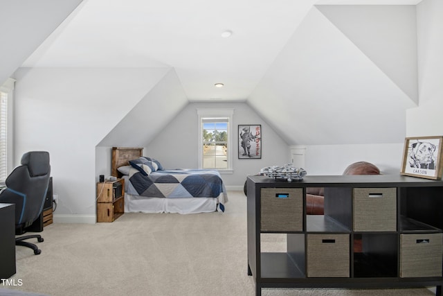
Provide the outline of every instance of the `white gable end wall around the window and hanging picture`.
[[[154,157],[165,168],[197,168],[198,108],[233,108],[234,173],[221,175],[226,186],[243,186],[246,175],[253,175],[265,166],[289,162],[287,143],[276,134],[246,103],[190,103],[147,144],[143,154]],[[262,125],[262,159],[238,159],[237,126]]]

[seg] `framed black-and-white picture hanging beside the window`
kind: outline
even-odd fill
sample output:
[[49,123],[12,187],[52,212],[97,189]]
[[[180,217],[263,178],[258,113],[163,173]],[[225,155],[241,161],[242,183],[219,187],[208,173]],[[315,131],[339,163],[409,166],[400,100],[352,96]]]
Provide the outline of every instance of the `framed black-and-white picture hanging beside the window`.
[[238,158],[262,158],[262,125],[238,125]]

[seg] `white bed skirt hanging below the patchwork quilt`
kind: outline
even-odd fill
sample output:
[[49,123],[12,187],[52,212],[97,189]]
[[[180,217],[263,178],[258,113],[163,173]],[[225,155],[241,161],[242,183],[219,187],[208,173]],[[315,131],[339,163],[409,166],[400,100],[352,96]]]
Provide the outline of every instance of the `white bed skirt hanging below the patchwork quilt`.
[[197,214],[220,211],[218,198],[140,198],[125,193],[125,213]]

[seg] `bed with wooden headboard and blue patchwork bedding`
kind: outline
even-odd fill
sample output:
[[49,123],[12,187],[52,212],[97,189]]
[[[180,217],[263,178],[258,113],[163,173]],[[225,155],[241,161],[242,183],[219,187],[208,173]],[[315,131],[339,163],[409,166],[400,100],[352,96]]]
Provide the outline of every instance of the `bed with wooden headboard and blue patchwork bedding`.
[[218,171],[166,170],[143,148],[113,147],[111,166],[111,175],[125,180],[125,212],[208,213],[228,202]]

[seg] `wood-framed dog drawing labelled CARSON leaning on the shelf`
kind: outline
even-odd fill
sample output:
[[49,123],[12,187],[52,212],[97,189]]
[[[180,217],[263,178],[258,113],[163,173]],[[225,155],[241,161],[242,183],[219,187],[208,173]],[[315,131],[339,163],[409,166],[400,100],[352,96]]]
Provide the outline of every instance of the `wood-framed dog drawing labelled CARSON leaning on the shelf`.
[[442,177],[443,136],[406,138],[401,175],[439,180]]

